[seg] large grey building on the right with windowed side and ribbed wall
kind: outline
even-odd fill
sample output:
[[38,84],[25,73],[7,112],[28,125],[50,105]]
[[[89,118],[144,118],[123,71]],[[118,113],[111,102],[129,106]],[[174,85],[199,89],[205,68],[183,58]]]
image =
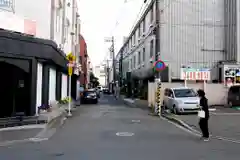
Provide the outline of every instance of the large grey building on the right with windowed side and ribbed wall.
[[[224,60],[224,0],[159,0],[159,46],[156,45],[156,0],[152,0],[122,46],[123,79],[153,77],[155,57],[167,69],[164,80],[180,79],[180,68],[212,68]],[[119,56],[118,59],[120,59]]]

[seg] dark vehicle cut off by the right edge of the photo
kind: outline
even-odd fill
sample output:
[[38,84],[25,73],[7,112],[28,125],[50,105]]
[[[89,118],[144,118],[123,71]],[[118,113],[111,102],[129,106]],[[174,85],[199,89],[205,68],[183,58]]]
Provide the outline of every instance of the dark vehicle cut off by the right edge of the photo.
[[229,88],[227,103],[229,107],[240,105],[240,85],[234,85]]

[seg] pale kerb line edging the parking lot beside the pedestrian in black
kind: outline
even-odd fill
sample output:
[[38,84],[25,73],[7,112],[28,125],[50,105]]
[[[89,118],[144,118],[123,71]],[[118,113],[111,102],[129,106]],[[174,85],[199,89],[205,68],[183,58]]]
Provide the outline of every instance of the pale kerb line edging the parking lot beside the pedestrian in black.
[[[193,128],[192,128],[193,131],[191,131],[191,130],[186,129],[186,128],[184,128],[184,127],[182,127],[182,126],[180,126],[180,125],[178,125],[178,124],[176,124],[176,123],[174,123],[174,122],[172,122],[172,121],[170,121],[170,120],[168,120],[164,117],[160,117],[160,118],[163,119],[163,120],[166,120],[167,122],[173,124],[174,126],[180,128],[180,129],[184,130],[185,132],[188,132],[188,133],[190,133],[194,136],[197,136],[197,137],[201,137],[201,133],[199,131],[193,129]],[[227,138],[227,137],[222,137],[222,136],[213,136],[213,135],[210,135],[210,137],[218,139],[218,140],[226,141],[226,142],[232,142],[232,143],[240,144],[240,140],[237,140],[237,139],[232,139],[232,138]]]

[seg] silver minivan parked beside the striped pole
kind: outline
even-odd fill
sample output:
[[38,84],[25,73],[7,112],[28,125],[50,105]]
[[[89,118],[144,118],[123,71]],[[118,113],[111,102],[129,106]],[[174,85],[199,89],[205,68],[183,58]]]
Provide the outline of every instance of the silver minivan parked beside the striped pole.
[[197,93],[191,88],[165,89],[163,106],[173,111],[174,114],[197,113],[200,109],[199,102]]

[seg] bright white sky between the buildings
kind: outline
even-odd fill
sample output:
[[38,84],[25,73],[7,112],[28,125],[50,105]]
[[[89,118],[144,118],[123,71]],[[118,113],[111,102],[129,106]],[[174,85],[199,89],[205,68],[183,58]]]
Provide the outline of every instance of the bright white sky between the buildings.
[[87,43],[88,55],[93,66],[99,65],[107,55],[110,43],[106,37],[115,37],[115,52],[128,36],[143,0],[80,0],[81,34]]

